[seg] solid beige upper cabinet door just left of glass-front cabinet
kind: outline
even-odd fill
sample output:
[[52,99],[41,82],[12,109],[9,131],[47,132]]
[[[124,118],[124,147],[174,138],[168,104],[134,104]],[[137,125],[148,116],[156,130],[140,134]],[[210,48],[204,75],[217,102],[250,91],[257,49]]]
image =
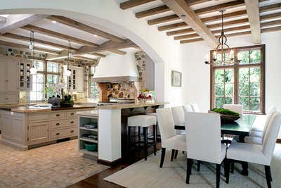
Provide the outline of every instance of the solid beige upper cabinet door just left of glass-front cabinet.
[[18,92],[18,62],[17,61],[7,61],[7,91],[8,92]]

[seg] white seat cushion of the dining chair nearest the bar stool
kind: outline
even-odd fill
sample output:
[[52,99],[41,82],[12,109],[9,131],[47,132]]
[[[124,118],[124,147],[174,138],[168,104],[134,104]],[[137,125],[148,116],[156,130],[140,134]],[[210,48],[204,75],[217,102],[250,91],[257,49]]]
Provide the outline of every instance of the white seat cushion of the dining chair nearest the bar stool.
[[186,151],[185,134],[176,135],[174,137],[170,137],[169,139],[165,139],[164,141],[162,141],[161,144],[162,144],[162,148]]

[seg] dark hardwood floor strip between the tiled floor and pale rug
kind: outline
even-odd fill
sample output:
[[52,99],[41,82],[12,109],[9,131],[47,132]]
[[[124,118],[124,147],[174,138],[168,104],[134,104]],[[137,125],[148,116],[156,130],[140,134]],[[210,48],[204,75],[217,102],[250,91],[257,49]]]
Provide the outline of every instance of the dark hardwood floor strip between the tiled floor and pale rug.
[[[157,150],[161,149],[161,143],[157,143]],[[72,186],[70,186],[69,188],[95,188],[95,187],[107,187],[107,188],[117,188],[117,187],[122,187],[119,186],[117,184],[113,184],[111,182],[107,182],[105,180],[103,180],[103,178],[112,175],[114,173],[116,173],[119,170],[122,170],[124,168],[126,168],[127,166],[136,163],[136,161],[141,160],[142,158],[144,158],[144,151],[143,149],[141,150],[141,153],[138,152],[132,152],[133,154],[131,154],[131,160],[126,160],[126,161],[122,161],[120,162],[118,165],[115,165],[111,168],[108,168],[107,170],[103,170],[102,172],[93,175],[91,177],[86,178],[85,180],[81,180],[80,182],[77,182],[76,184],[73,184]],[[150,147],[150,149],[148,149],[148,155],[153,153],[153,147]]]

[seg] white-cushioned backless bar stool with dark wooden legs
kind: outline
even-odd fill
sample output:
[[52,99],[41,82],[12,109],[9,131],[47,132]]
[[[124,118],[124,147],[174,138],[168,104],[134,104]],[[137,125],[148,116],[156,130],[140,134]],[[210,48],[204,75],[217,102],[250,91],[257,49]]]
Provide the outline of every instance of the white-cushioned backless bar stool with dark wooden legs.
[[[131,149],[131,127],[138,127],[138,150],[141,149],[141,127],[143,127],[145,161],[148,159],[148,144],[154,146],[156,155],[156,123],[157,118],[154,115],[134,115],[128,118],[128,139],[129,150]],[[153,126],[153,143],[148,143],[148,127]]]

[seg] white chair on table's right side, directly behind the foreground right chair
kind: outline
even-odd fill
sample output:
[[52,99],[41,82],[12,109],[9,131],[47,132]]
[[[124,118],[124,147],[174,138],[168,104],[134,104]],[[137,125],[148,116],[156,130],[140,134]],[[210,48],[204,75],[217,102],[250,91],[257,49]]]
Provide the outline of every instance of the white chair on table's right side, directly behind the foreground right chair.
[[263,125],[263,130],[253,130],[251,129],[251,132],[249,134],[249,137],[244,138],[244,142],[249,144],[263,144],[263,139],[265,137],[266,131],[268,129],[270,119],[273,117],[273,114],[277,112],[275,107],[271,107],[268,111],[268,115],[266,115],[266,123]]

